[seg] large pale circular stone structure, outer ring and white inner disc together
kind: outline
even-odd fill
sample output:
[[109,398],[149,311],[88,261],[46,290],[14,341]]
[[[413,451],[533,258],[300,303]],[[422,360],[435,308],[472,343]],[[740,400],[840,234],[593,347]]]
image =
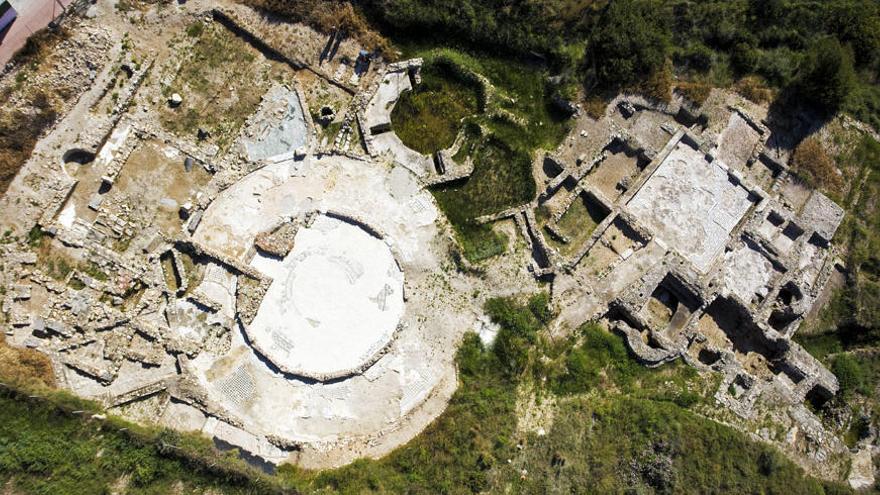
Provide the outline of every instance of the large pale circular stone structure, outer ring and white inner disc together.
[[[446,265],[451,238],[419,176],[307,154],[230,182],[192,236],[227,267],[206,272],[200,295],[236,318],[228,349],[184,365],[211,416],[198,428],[308,469],[385,455],[423,431],[455,391],[457,345],[479,313],[470,291],[451,290],[469,280]],[[257,238],[290,223],[288,254],[261,254]],[[353,261],[363,274],[350,283]]]

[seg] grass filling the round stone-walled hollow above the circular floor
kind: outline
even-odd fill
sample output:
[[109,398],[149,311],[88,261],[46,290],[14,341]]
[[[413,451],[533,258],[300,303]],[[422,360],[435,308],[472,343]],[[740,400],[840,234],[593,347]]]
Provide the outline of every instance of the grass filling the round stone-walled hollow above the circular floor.
[[473,86],[433,64],[422,70],[422,83],[401,96],[391,121],[403,144],[430,155],[452,146],[461,120],[478,109]]

